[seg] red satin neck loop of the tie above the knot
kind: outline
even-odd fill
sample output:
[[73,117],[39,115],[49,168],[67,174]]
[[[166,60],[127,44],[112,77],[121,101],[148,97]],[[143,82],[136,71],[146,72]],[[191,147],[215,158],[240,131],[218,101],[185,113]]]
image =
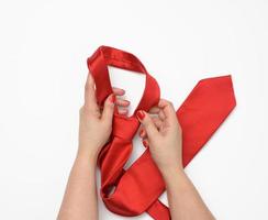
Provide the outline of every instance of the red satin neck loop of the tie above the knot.
[[160,89],[156,79],[147,73],[143,63],[133,54],[110,46],[100,46],[87,63],[89,72],[94,78],[96,97],[99,105],[103,105],[105,98],[113,92],[108,66],[145,75],[145,89],[134,114],[139,109],[148,111],[158,103]]

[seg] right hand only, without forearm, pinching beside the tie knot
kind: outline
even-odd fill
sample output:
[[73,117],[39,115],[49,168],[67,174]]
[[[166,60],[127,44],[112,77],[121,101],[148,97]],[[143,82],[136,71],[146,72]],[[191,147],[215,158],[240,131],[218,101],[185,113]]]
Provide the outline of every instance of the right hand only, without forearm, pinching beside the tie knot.
[[149,146],[152,157],[159,170],[181,169],[181,128],[171,102],[161,99],[149,112],[138,111],[142,123],[139,136]]

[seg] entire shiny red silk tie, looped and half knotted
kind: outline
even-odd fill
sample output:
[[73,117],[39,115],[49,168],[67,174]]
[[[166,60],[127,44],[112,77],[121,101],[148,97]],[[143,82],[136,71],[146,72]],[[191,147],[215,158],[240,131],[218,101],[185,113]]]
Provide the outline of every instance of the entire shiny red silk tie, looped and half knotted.
[[[138,110],[148,111],[159,101],[157,81],[133,54],[101,46],[88,58],[88,67],[96,81],[99,105],[112,94],[108,66],[145,74],[142,99],[132,117],[114,112],[113,132],[102,148],[98,164],[101,169],[101,197],[107,208],[121,216],[133,217],[147,211],[157,220],[170,219],[168,208],[158,200],[165,191],[163,177],[153,162],[149,150],[124,169],[132,153],[132,139],[138,130]],[[235,107],[231,76],[202,79],[177,110],[182,129],[183,166],[194,157]]]

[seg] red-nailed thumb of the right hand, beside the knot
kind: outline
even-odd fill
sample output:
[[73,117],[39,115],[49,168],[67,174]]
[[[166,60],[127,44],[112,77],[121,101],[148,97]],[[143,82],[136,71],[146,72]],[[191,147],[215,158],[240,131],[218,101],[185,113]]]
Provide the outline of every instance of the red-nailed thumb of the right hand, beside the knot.
[[138,121],[144,125],[144,129],[145,129],[148,138],[153,138],[158,134],[158,130],[157,130],[154,121],[149,117],[149,114],[147,114],[143,110],[139,110],[139,111],[137,111],[136,117],[137,117]]

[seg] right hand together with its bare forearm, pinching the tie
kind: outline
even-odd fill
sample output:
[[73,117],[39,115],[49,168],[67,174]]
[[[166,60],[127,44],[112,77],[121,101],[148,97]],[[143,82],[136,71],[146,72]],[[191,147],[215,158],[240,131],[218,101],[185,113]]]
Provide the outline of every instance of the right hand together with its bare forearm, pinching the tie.
[[172,105],[161,99],[149,113],[138,111],[137,118],[143,124],[139,135],[164,177],[171,219],[215,219],[183,172],[181,128]]

